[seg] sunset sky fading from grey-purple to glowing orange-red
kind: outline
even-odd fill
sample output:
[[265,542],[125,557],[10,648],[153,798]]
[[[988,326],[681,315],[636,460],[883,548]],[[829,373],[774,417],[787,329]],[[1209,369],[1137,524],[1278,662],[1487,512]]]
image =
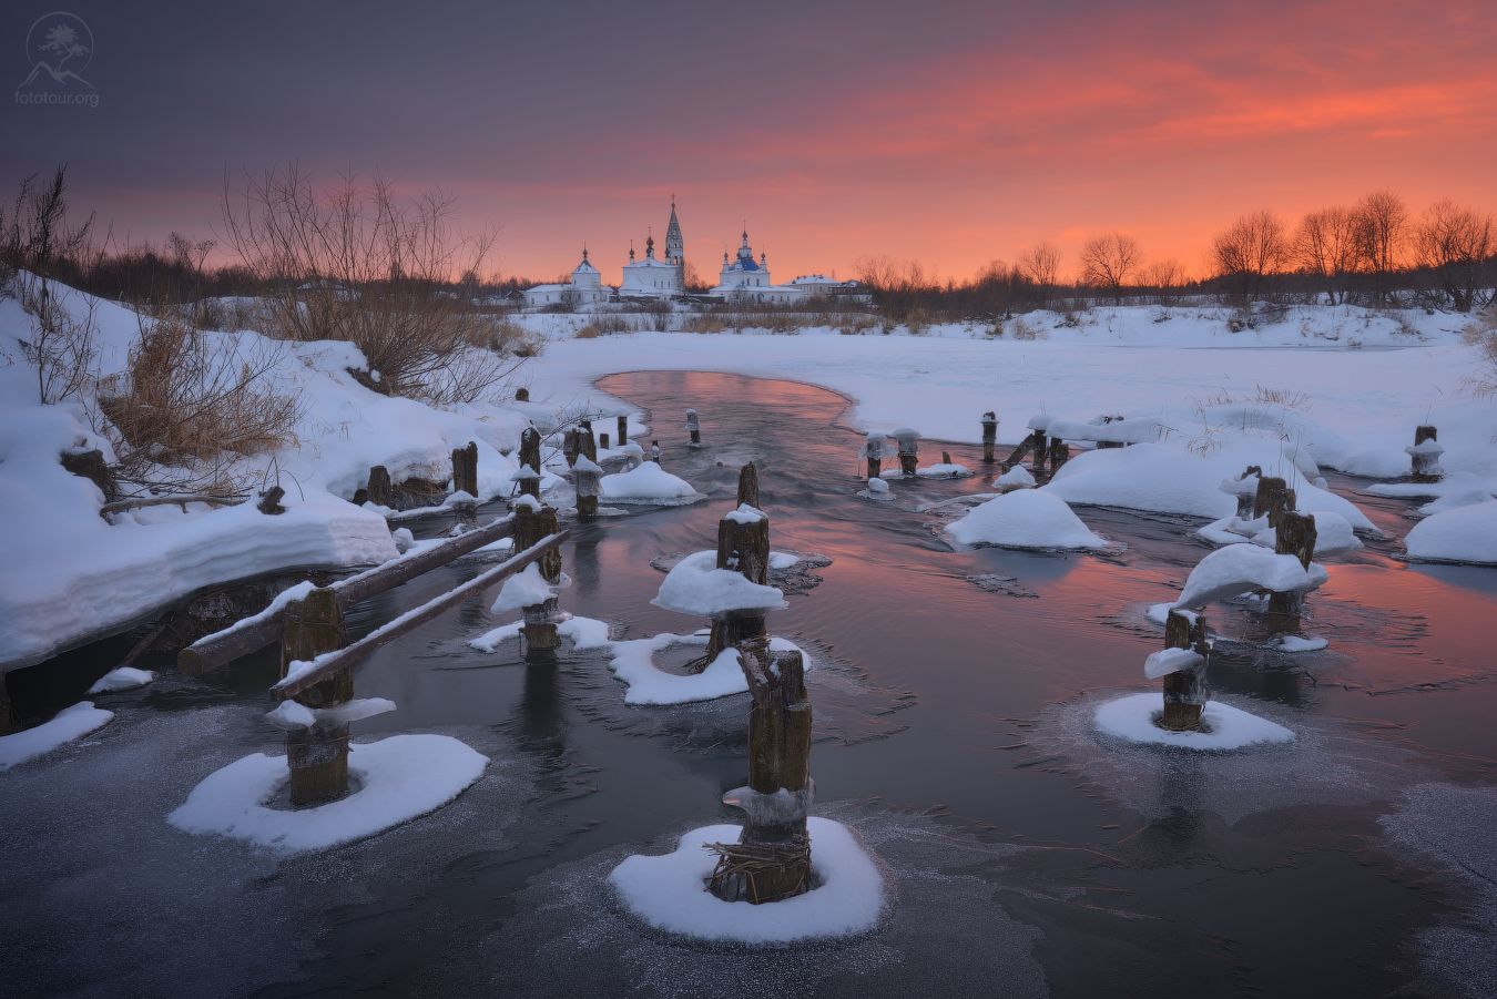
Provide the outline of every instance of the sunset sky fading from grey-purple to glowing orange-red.
[[[30,24],[9,3],[0,70]],[[1133,232],[1199,271],[1214,229],[1376,187],[1497,208],[1490,0],[1208,4],[76,3],[97,108],[0,111],[0,180],[67,163],[117,237],[219,226],[226,171],[379,169],[500,226],[551,279],[663,235],[716,276],[747,220],[777,280],[943,277]]]

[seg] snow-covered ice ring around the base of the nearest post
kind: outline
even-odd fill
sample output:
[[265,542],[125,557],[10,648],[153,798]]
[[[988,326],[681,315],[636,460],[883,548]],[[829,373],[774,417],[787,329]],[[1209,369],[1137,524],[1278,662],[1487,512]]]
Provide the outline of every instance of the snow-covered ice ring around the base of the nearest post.
[[639,920],[699,941],[774,947],[874,929],[885,899],[877,866],[841,822],[813,816],[805,825],[811,839],[811,870],[819,884],[783,902],[723,902],[704,887],[717,864],[705,845],[737,842],[737,825],[692,830],[663,857],[627,857],[608,881]]

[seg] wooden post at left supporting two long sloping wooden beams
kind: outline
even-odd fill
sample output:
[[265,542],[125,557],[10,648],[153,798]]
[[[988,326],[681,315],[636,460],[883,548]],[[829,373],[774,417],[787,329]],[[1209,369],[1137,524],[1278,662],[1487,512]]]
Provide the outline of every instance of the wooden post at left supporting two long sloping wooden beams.
[[[343,613],[329,587],[290,601],[281,611],[281,678],[292,662],[310,662],[343,647]],[[296,702],[331,708],[353,699],[353,672],[344,669],[296,695]],[[323,804],[349,791],[349,723],[319,717],[286,732],[286,765],[290,768],[290,803],[295,807]]]

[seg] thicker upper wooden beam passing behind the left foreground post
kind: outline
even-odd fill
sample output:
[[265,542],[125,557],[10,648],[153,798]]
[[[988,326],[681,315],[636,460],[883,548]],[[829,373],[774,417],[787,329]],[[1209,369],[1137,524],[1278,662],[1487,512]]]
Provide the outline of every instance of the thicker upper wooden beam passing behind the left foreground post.
[[[361,604],[371,596],[392,590],[403,583],[410,583],[424,572],[445,566],[454,559],[476,551],[500,538],[515,533],[515,515],[506,514],[482,527],[449,538],[439,545],[412,553],[401,559],[391,559],[382,565],[365,569],[346,580],[332,584],[338,595],[338,610],[347,611],[355,604]],[[250,619],[247,619],[250,620]],[[241,656],[259,652],[280,640],[281,614],[275,610],[260,614],[253,623],[237,623],[229,628],[204,635],[193,644],[177,653],[177,668],[189,675],[202,675],[225,666]]]

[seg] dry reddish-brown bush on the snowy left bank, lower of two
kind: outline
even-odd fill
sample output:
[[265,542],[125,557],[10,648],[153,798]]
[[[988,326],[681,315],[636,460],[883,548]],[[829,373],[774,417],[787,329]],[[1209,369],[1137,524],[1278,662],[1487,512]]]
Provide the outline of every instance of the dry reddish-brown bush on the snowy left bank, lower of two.
[[287,443],[301,415],[299,400],[268,379],[284,353],[183,318],[141,318],[126,373],[99,383],[118,478],[153,490],[240,491],[238,458]]

